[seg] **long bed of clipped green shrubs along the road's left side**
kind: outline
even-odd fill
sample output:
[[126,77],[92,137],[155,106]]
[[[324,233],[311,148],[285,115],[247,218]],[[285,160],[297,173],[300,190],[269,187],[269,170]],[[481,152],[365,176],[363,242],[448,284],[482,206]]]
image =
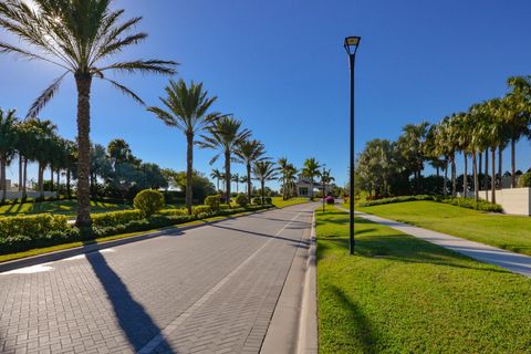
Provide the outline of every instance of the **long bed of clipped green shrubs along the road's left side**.
[[230,216],[270,207],[272,206],[248,206],[246,208],[227,206],[221,207],[218,211],[212,211],[208,206],[197,206],[194,207],[192,215],[187,215],[186,209],[166,209],[152,217],[145,217],[139,210],[94,214],[91,232],[85,237],[76,227],[67,223],[65,216],[43,214],[0,218],[0,254],[121,233],[148,231],[209,217]]

